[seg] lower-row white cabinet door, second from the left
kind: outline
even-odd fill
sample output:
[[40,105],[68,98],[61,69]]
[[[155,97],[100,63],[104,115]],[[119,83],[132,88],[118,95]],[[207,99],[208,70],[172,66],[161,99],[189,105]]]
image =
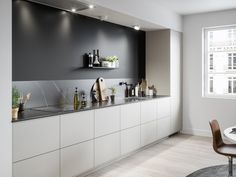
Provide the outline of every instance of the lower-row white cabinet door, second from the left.
[[93,141],[61,149],[61,177],[77,176],[94,164]]

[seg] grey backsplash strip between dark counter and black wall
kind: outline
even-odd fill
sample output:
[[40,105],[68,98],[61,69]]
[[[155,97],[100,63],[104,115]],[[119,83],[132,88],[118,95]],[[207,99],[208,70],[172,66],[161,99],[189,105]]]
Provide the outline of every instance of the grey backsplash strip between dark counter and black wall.
[[[78,87],[79,92],[84,91],[87,95],[87,100],[90,101],[90,90],[95,79],[86,80],[55,80],[55,81],[14,81],[13,86],[16,86],[19,91],[26,95],[31,93],[29,102],[25,105],[26,108],[58,105],[61,100],[65,104],[73,104],[73,95],[75,87]],[[119,82],[135,83],[137,79],[105,79],[106,87],[116,87],[118,98],[124,98],[124,86],[119,86]],[[107,90],[109,95],[109,90]]]

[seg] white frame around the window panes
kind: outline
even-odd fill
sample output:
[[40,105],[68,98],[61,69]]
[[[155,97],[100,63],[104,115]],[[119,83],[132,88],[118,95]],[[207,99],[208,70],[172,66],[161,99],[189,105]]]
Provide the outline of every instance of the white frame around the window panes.
[[[208,93],[209,81],[210,81],[210,79],[208,79],[210,77],[208,74],[208,69],[209,69],[210,64],[208,63],[209,53],[205,52],[207,50],[207,43],[208,43],[207,32],[212,31],[212,30],[229,29],[229,28],[236,28],[236,24],[202,28],[202,97],[236,99],[236,95],[232,95],[232,94],[231,95],[230,94],[229,95],[220,95],[220,94],[209,94]],[[232,57],[232,60],[233,60],[233,57]],[[214,67],[214,64],[213,64],[213,67]],[[233,65],[232,65],[232,67],[233,67]]]

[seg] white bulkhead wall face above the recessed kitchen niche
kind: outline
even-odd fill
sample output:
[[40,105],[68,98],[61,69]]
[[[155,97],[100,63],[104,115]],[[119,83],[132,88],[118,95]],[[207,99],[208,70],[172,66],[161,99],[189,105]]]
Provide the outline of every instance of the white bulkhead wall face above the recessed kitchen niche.
[[182,17],[153,0],[90,0],[90,2],[166,28],[182,31]]

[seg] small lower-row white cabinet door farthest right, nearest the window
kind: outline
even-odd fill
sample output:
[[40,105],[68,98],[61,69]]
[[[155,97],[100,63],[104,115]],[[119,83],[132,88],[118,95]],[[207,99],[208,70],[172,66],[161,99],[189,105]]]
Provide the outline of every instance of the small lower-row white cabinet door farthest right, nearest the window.
[[162,139],[170,135],[170,117],[157,120],[157,138]]

